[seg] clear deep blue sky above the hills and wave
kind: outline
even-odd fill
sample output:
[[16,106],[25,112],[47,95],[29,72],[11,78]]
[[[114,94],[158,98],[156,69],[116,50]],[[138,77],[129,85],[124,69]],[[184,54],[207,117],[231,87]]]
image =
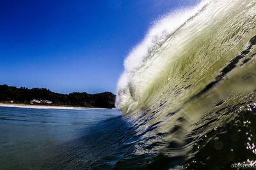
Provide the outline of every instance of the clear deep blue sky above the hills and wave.
[[0,1],[0,84],[115,93],[152,22],[198,1]]

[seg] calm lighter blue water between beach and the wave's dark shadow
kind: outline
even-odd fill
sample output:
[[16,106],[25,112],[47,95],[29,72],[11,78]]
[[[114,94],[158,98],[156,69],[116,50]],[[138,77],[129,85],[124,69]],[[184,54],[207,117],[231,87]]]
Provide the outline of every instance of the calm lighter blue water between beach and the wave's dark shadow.
[[[91,132],[89,127],[120,114],[117,110],[0,107],[0,169],[54,168],[61,153],[74,157],[65,150],[69,143]],[[68,162],[63,166],[68,167]]]

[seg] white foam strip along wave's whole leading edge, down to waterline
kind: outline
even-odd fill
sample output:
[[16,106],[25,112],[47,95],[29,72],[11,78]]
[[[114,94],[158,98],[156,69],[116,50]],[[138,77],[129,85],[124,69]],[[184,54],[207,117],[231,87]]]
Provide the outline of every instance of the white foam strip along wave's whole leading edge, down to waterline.
[[145,63],[150,53],[157,50],[159,46],[166,41],[175,30],[186,23],[189,18],[193,17],[200,11],[209,1],[205,0],[196,6],[190,8],[182,8],[172,11],[168,15],[164,15],[149,29],[147,35],[135,46],[124,61],[124,73],[120,76],[117,84],[116,108],[120,109],[120,105],[132,102],[131,90],[129,84],[134,76],[134,73],[140,69]]

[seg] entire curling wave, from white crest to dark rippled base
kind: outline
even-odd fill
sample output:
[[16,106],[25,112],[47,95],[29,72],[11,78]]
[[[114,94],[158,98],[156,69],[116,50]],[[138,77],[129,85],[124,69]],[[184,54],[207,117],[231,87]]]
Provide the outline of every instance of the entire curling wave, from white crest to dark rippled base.
[[124,61],[116,108],[132,149],[113,167],[256,164],[255,26],[255,0],[202,1],[158,20]]

